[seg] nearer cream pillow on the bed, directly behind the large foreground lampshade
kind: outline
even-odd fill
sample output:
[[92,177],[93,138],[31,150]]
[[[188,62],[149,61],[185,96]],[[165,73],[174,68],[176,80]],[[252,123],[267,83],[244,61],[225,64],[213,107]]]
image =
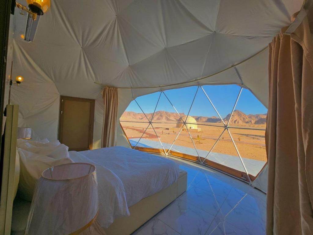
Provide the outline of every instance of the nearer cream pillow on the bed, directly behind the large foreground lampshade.
[[20,155],[20,180],[18,195],[26,201],[32,201],[33,192],[41,173],[56,165],[72,163],[70,158],[54,159],[43,154],[35,154],[18,149]]

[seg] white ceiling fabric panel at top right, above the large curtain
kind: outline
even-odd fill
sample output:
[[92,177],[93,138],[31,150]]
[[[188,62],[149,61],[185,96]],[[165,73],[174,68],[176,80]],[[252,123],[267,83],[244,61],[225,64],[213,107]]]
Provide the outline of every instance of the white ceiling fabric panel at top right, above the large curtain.
[[[231,4],[228,0],[220,0],[216,31],[230,35],[262,37],[272,37],[280,32],[281,25],[289,25],[290,16],[299,11],[303,3],[293,0],[234,2],[235,4]],[[276,25],[272,24],[274,21]]]

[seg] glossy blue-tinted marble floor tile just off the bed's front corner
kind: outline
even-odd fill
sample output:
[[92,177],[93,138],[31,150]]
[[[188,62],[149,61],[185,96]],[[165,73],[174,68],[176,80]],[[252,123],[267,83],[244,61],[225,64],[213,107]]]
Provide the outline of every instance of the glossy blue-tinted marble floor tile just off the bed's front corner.
[[193,186],[179,198],[215,216],[227,195],[217,195]]

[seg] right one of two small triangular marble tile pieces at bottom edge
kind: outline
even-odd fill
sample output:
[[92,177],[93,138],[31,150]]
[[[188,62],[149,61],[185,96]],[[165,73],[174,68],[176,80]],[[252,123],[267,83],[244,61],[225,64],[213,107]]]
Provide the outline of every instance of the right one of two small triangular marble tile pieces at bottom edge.
[[215,218],[205,235],[250,235],[247,232],[225,222],[219,218]]

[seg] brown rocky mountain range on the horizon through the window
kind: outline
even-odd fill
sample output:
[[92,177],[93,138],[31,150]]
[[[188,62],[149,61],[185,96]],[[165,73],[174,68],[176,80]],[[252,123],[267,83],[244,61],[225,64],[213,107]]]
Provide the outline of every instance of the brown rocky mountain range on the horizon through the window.
[[[146,113],[146,116],[151,120],[153,113]],[[185,114],[179,113],[182,117]],[[179,115],[176,112],[166,112],[166,111],[156,111],[153,116],[153,121],[171,121],[176,122],[179,119]],[[203,117],[203,116],[192,116],[199,123],[221,123],[218,117]],[[230,113],[223,119],[227,123],[230,117]],[[121,121],[147,121],[143,113],[136,113],[125,111],[120,118]],[[234,110],[232,118],[230,120],[231,124],[265,124],[266,114],[245,114],[239,110]]]

